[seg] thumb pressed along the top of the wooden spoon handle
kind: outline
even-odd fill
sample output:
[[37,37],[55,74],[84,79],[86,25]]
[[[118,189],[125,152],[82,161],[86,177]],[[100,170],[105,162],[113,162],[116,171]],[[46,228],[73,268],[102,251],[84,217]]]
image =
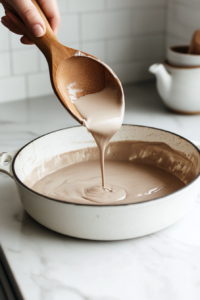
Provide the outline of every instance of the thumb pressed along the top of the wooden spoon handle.
[[44,21],[31,0],[7,0],[7,2],[14,7],[26,26],[36,37],[45,34],[46,27]]

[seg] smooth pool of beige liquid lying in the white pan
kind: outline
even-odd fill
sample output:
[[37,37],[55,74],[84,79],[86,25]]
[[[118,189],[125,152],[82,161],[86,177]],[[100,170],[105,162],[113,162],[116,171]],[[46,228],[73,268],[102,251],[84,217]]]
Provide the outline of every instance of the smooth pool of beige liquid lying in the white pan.
[[107,189],[101,186],[99,161],[87,161],[55,171],[32,189],[50,198],[81,204],[142,202],[184,186],[175,176],[141,163],[106,161]]

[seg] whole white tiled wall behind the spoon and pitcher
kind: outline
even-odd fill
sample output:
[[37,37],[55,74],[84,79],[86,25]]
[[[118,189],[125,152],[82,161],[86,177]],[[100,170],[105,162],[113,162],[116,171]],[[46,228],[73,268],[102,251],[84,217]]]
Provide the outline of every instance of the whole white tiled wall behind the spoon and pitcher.
[[[105,61],[123,83],[152,78],[148,67],[163,60],[166,46],[189,44],[199,28],[200,0],[57,1],[58,40]],[[0,91],[1,102],[53,93],[43,54],[1,24]]]

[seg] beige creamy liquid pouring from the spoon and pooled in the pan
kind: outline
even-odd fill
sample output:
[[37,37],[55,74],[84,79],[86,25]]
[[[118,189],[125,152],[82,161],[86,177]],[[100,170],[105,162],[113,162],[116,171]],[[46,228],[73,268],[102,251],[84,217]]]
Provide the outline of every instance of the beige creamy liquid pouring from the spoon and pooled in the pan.
[[[74,91],[73,95],[74,95]],[[32,186],[32,189],[48,197],[67,202],[83,204],[133,203],[167,195],[184,186],[173,174],[155,166],[130,162],[125,155],[130,144],[116,144],[111,153],[120,153],[121,160],[106,161],[105,149],[112,136],[120,129],[124,117],[124,98],[114,87],[105,87],[93,94],[73,99],[78,112],[85,119],[85,126],[93,135],[100,156],[93,160],[95,148],[91,148],[90,160],[70,163],[69,166],[54,170]],[[145,144],[145,143],[144,143]],[[145,145],[142,145],[144,147]],[[140,145],[141,147],[141,145]],[[142,148],[141,148],[142,149]],[[121,152],[120,152],[121,151]],[[73,153],[68,153],[68,160]],[[76,151],[76,157],[86,157],[84,151]],[[124,156],[124,158],[123,158]],[[55,158],[56,159],[56,158]],[[101,167],[101,176],[100,176]],[[106,177],[106,180],[105,180]]]

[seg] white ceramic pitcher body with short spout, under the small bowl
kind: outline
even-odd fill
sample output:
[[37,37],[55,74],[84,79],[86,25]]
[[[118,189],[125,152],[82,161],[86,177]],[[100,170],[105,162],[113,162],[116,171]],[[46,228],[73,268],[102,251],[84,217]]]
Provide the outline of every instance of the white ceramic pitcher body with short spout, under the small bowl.
[[167,63],[150,66],[157,89],[167,107],[179,113],[200,113],[200,67],[178,67]]

